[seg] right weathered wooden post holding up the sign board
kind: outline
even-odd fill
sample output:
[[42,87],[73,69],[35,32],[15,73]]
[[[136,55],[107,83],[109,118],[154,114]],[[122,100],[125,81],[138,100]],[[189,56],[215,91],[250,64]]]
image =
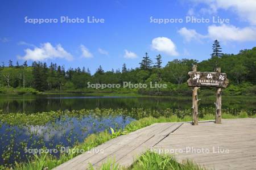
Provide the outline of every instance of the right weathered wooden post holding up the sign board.
[[[218,67],[216,68],[217,73],[221,73],[221,68]],[[221,88],[217,88],[216,91],[216,113],[215,113],[215,123],[216,124],[221,124]]]

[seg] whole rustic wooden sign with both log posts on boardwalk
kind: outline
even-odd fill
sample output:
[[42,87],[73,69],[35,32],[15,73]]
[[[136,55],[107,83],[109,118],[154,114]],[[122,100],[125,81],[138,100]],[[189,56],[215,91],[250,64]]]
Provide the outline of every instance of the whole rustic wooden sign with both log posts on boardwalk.
[[226,73],[221,73],[221,68],[217,68],[216,72],[198,72],[197,66],[193,65],[192,71],[188,72],[190,78],[187,83],[188,86],[193,87],[192,93],[192,108],[193,108],[193,125],[198,125],[198,101],[197,90],[201,86],[207,87],[217,87],[216,92],[216,114],[215,122],[216,124],[221,124],[221,88],[226,88],[228,86],[228,79],[226,78]]

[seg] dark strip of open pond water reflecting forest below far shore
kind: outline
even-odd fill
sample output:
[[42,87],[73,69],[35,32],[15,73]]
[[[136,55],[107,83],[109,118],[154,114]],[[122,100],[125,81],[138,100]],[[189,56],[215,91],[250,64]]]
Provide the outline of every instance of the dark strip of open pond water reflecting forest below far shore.
[[[200,97],[200,108],[214,108],[214,96]],[[57,110],[80,110],[94,108],[150,108],[191,109],[189,97],[133,97],[133,96],[88,96],[88,95],[0,95],[3,113],[35,113]],[[222,108],[236,114],[240,110],[255,112],[256,97],[222,97]],[[199,108],[199,109],[200,109]]]

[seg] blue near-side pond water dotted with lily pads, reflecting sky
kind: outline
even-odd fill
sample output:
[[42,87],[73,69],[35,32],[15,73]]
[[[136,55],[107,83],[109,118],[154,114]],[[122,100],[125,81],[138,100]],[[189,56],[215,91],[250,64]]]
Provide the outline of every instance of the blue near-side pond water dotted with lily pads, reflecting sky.
[[[27,160],[26,149],[53,149],[60,146],[73,146],[82,142],[89,134],[99,131],[124,128],[133,121],[133,118],[126,116],[95,117],[61,116],[55,122],[44,126],[10,126],[1,124],[1,150],[0,164],[11,164],[15,161]],[[57,155],[54,154],[53,155]]]

